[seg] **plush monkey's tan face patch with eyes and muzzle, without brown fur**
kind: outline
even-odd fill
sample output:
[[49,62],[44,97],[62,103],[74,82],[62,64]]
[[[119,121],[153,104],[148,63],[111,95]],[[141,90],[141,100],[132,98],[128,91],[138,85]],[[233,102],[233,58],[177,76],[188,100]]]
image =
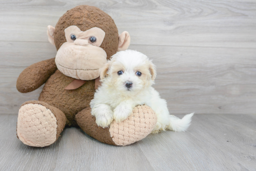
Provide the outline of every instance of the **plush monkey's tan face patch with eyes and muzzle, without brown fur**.
[[55,58],[58,69],[74,79],[99,77],[99,69],[107,62],[107,54],[100,47],[105,32],[98,27],[83,32],[77,26],[69,26],[65,36],[67,42],[61,45]]

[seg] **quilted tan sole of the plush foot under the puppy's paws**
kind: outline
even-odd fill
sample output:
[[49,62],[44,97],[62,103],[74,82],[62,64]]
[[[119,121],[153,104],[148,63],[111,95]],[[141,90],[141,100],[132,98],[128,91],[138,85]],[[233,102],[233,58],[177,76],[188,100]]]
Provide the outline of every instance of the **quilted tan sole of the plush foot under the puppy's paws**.
[[150,134],[156,122],[157,116],[149,106],[138,105],[127,119],[110,124],[110,136],[116,145],[130,145]]

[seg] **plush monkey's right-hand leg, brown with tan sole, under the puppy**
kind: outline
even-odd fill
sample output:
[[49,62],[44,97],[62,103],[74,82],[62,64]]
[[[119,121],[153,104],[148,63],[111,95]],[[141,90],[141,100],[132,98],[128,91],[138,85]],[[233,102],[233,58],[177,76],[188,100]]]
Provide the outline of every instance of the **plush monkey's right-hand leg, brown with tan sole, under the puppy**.
[[102,143],[125,146],[150,134],[156,125],[157,116],[149,106],[138,105],[127,119],[119,123],[114,120],[109,128],[96,124],[90,108],[76,114],[75,120],[84,132]]

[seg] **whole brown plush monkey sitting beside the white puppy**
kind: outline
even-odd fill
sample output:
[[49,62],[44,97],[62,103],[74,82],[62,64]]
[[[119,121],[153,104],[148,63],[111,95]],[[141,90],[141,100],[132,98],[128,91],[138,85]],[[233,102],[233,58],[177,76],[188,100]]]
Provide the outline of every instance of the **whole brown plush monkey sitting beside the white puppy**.
[[99,69],[117,51],[128,48],[128,32],[118,36],[107,13],[78,6],[67,11],[55,28],[48,26],[47,35],[56,46],[56,57],[27,67],[17,80],[19,92],[32,92],[45,83],[38,101],[20,107],[17,137],[24,144],[51,145],[66,125],[80,126],[89,136],[110,145],[129,145],[152,131],[157,118],[146,105],[136,106],[129,118],[113,121],[104,129],[95,123],[89,107],[99,85]]

